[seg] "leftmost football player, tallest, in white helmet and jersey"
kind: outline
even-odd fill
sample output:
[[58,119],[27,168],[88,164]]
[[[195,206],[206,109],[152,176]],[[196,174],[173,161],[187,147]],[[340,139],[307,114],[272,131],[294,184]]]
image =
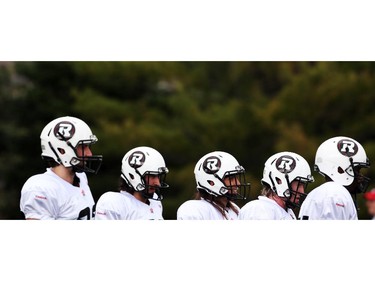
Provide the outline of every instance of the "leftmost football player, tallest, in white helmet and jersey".
[[94,199],[86,172],[96,174],[101,155],[92,155],[97,137],[75,117],[60,117],[44,127],[42,159],[47,171],[22,187],[20,208],[26,219],[92,219]]

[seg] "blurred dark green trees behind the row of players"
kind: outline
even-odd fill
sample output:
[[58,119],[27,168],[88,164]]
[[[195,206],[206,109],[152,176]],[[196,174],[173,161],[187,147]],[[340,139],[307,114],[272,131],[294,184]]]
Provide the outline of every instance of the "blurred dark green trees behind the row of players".
[[[93,152],[103,165],[88,175],[95,200],[117,190],[129,149],[159,150],[170,170],[164,217],[175,219],[195,191],[196,161],[214,150],[245,167],[250,200],[265,160],[282,150],[312,167],[321,142],[347,135],[375,159],[374,92],[372,62],[2,62],[0,218],[23,218],[20,190],[44,172],[39,135],[56,117],[82,118],[99,138]],[[313,175],[310,189],[322,183]]]

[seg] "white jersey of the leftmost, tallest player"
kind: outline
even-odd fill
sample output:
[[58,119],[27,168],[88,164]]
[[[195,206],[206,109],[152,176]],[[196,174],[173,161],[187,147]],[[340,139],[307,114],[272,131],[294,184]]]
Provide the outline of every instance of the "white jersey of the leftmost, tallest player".
[[30,177],[22,187],[20,208],[25,218],[92,219],[95,205],[85,173],[76,173],[80,186],[74,186],[50,168]]

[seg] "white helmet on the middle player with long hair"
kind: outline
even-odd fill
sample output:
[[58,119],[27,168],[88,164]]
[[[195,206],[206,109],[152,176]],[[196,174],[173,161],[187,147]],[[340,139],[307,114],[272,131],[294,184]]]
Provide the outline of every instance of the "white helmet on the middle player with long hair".
[[[197,189],[231,200],[246,199],[250,183],[246,183],[245,169],[227,152],[214,151],[204,155],[194,168]],[[229,177],[230,184],[224,183]]]

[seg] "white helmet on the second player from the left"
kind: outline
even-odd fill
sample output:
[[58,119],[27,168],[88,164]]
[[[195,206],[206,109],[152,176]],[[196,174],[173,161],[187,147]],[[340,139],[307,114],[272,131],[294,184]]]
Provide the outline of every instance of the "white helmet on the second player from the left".
[[[128,151],[122,159],[121,177],[126,184],[139,191],[145,198],[162,200],[160,188],[167,188],[165,182],[168,168],[163,156],[154,148],[140,146]],[[146,180],[146,175],[157,175],[160,185],[151,186]],[[149,188],[155,188],[155,193],[149,193]]]

